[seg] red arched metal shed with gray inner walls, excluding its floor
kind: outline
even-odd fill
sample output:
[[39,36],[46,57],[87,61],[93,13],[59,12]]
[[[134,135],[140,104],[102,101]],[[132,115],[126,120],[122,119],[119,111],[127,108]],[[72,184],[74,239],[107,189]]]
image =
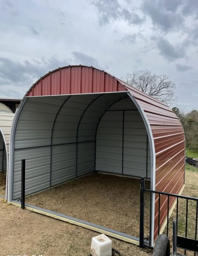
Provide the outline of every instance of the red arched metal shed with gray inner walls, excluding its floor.
[[[179,193],[185,182],[185,136],[175,113],[118,78],[81,65],[47,73],[23,98],[10,139],[9,201],[20,198],[21,159],[26,195],[95,171],[149,178],[152,190],[168,193]],[[165,203],[162,196],[160,227]],[[157,209],[152,196],[152,242]]]

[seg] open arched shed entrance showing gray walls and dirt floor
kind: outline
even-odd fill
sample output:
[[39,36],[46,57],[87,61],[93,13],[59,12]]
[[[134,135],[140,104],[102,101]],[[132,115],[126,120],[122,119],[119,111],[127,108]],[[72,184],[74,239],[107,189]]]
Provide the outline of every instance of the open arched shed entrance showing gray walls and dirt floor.
[[26,99],[15,133],[13,199],[20,198],[22,154],[26,196],[73,180],[28,204],[139,236],[139,178],[150,188],[150,145],[126,92]]

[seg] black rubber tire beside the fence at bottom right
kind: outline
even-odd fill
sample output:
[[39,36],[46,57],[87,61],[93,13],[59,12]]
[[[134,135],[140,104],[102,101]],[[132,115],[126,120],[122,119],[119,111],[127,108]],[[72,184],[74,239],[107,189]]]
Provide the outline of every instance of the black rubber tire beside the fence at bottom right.
[[170,241],[167,235],[158,235],[152,256],[170,256]]

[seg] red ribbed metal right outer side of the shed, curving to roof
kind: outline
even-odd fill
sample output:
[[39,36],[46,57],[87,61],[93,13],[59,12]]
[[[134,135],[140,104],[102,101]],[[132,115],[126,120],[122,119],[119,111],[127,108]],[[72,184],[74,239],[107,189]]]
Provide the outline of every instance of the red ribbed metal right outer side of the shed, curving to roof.
[[[180,120],[165,104],[126,85],[144,110],[152,129],[156,154],[157,191],[179,193],[185,179],[185,136]],[[179,177],[179,178],[178,178]],[[170,201],[170,206],[173,204]],[[167,197],[160,199],[160,227],[167,216]],[[157,237],[158,198],[155,200],[155,238]]]

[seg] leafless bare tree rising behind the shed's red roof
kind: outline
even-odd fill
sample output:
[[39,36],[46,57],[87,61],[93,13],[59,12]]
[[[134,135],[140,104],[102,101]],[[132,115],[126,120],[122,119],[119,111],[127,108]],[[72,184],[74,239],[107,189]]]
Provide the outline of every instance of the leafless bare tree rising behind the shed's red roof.
[[156,99],[160,99],[165,104],[175,102],[175,84],[168,80],[166,75],[155,75],[151,73],[127,74],[121,78],[127,84],[149,94]]

